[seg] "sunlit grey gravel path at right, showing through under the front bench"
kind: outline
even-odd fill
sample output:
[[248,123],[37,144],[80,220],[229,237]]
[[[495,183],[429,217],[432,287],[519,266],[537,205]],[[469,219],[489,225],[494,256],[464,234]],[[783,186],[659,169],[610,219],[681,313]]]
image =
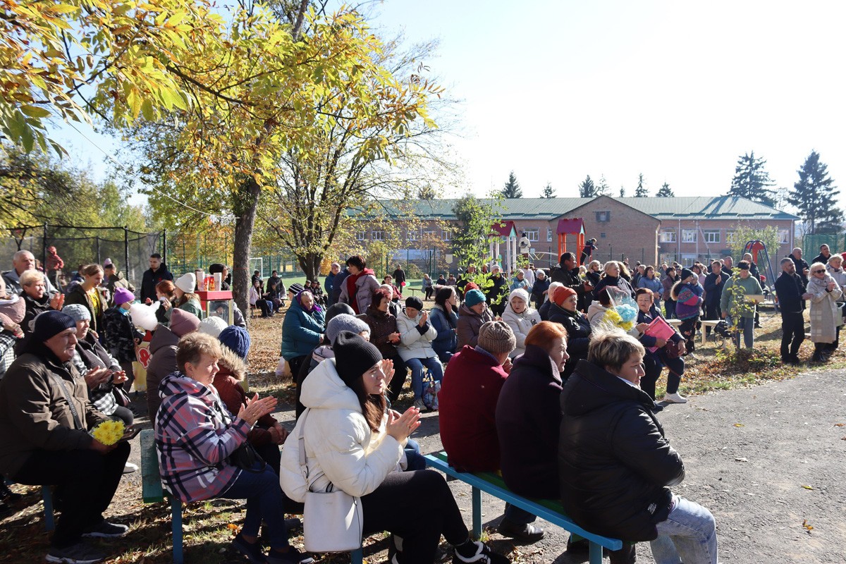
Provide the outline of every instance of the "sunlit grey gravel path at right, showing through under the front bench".
[[[844,370],[802,374],[692,397],[659,415],[687,469],[675,491],[717,518],[723,564],[846,561],[846,426],[836,426],[846,424],[844,383]],[[428,415],[421,431],[425,452],[440,447],[437,416]],[[470,523],[470,488],[452,485]],[[503,502],[483,499],[485,523],[495,527]],[[566,534],[545,528],[541,542],[518,547],[520,561],[585,560],[563,554]],[[638,546],[638,561],[653,561],[647,544]]]

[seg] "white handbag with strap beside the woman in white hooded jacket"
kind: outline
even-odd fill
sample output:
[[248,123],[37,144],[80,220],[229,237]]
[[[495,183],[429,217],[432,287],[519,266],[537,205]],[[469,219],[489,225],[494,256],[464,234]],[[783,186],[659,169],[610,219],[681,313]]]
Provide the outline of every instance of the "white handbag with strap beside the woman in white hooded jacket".
[[[309,409],[302,414],[305,419]],[[303,473],[308,490],[303,511],[303,537],[309,552],[349,552],[361,547],[364,512],[361,500],[343,490],[334,490],[332,484],[325,491],[311,491],[309,468],[305,458],[305,420],[299,428],[299,470]]]

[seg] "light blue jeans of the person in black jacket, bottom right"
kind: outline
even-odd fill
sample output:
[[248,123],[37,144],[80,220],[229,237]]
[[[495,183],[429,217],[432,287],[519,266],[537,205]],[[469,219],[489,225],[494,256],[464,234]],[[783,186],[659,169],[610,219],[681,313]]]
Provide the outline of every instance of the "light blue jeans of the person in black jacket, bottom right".
[[656,564],[717,564],[717,524],[705,507],[677,496],[656,528],[658,538],[650,543]]

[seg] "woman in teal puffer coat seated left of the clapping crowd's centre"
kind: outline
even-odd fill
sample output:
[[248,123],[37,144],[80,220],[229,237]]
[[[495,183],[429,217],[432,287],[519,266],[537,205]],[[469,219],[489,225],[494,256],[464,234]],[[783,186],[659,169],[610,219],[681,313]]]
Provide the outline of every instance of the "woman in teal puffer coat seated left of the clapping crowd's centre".
[[282,323],[282,356],[291,367],[291,374],[299,374],[299,366],[323,340],[325,330],[323,310],[307,290],[298,293],[285,313]]

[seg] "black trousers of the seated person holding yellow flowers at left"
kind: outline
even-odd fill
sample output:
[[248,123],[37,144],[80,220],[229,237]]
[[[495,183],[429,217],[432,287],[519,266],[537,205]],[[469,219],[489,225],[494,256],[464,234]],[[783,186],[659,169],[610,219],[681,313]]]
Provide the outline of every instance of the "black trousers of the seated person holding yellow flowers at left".
[[32,452],[12,479],[24,485],[56,485],[62,494],[62,515],[51,543],[57,548],[75,545],[85,529],[103,520],[103,512],[118,490],[129,442],[118,443],[107,454],[85,449]]

